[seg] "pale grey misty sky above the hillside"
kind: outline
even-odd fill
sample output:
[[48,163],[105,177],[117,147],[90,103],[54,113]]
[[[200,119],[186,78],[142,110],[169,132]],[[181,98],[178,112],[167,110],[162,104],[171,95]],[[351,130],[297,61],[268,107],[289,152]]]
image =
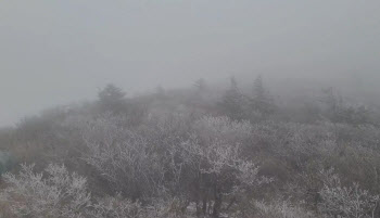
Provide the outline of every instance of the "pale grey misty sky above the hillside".
[[380,81],[379,0],[1,0],[0,126],[238,74]]

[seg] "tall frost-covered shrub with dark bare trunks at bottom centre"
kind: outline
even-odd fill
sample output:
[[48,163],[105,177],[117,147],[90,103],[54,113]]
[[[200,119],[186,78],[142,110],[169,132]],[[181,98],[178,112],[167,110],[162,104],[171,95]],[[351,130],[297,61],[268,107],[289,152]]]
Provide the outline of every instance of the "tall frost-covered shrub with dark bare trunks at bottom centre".
[[195,121],[187,141],[172,148],[172,168],[179,181],[190,182],[199,214],[217,217],[235,203],[235,193],[271,181],[258,176],[258,166],[241,155],[241,144],[250,132],[251,125],[245,121],[203,117]]

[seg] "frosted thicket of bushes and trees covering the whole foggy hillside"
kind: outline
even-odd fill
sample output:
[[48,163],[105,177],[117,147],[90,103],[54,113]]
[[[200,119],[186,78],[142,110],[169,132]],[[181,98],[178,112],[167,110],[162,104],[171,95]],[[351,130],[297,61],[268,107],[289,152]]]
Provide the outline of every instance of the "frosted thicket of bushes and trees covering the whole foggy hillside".
[[[376,110],[332,89],[283,107],[254,82],[47,111],[1,131],[3,217],[380,217]],[[321,100],[321,101],[319,101]],[[302,113],[300,113],[302,112]],[[20,165],[22,164],[22,165]],[[5,169],[5,168],[4,168]]]

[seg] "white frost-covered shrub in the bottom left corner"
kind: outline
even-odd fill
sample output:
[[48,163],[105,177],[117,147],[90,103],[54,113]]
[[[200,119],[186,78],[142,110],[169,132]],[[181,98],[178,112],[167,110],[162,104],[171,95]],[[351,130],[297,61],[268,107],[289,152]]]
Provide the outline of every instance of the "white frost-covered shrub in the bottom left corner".
[[49,165],[37,174],[33,165],[22,165],[18,175],[2,176],[7,188],[1,201],[15,217],[81,218],[90,205],[86,179],[69,174],[64,166]]

